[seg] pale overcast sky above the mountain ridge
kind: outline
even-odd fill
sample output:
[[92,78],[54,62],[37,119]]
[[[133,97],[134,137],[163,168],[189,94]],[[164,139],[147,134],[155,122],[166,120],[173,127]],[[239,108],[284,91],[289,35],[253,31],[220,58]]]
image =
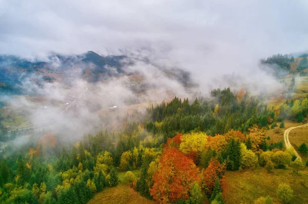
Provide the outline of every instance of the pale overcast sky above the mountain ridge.
[[0,54],[23,57],[129,51],[205,76],[306,51],[307,34],[305,0],[0,0]]

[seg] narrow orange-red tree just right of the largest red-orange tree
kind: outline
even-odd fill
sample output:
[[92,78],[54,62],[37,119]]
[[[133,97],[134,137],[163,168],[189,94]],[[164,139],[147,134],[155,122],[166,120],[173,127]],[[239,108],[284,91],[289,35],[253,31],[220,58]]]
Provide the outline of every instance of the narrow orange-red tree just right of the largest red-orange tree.
[[210,195],[213,192],[217,176],[222,178],[225,171],[225,165],[220,164],[215,159],[210,161],[208,167],[202,173],[202,183],[206,194]]

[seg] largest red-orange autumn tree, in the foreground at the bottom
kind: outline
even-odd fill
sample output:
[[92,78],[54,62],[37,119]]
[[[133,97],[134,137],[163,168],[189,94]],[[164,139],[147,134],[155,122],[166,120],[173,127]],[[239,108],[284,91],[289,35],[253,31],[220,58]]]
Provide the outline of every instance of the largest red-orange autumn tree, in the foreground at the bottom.
[[160,168],[153,175],[151,196],[160,203],[188,199],[190,185],[200,182],[199,170],[192,160],[175,147],[165,147],[160,158]]

